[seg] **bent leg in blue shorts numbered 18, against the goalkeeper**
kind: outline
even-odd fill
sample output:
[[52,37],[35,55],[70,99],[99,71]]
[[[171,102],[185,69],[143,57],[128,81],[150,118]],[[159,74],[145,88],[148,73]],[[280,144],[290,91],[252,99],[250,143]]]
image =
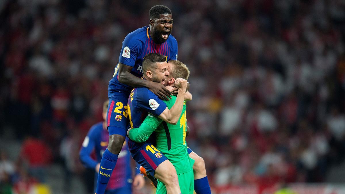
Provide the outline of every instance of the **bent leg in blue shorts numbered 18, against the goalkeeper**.
[[175,167],[155,146],[148,142],[135,143],[129,140],[128,148],[138,164],[165,184],[168,194],[181,193]]

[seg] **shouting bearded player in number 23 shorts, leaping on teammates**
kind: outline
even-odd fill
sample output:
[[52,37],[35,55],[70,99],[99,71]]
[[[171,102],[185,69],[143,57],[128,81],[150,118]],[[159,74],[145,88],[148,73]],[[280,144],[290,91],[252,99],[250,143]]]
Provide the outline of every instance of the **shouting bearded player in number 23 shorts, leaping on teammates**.
[[96,193],[103,194],[108,176],[112,173],[118,154],[125,141],[128,111],[127,100],[133,87],[147,87],[161,99],[167,99],[170,91],[160,83],[154,83],[142,76],[142,60],[151,52],[166,56],[166,60],[177,59],[177,41],[170,36],[172,30],[171,11],[166,6],[157,5],[150,9],[150,26],[139,28],[129,33],[122,42],[119,64],[115,68],[114,77],[109,81],[109,108],[107,127],[109,130],[109,145],[105,150],[100,165]]

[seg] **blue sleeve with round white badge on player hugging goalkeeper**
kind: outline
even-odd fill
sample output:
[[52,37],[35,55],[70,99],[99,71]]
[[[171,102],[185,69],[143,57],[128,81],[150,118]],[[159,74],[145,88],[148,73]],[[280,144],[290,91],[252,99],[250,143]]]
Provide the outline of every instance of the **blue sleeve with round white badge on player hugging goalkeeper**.
[[159,99],[157,95],[147,88],[142,89],[139,95],[138,106],[154,116],[162,114],[167,107],[163,100]]

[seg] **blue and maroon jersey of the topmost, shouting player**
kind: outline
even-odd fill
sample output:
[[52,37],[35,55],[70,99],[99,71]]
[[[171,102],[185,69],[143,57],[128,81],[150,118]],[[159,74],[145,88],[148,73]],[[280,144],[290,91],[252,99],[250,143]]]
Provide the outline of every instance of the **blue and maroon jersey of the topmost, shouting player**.
[[[129,33],[122,42],[119,62],[133,67],[131,73],[137,77],[142,76],[142,60],[151,53],[159,53],[166,56],[167,61],[177,60],[177,41],[169,35],[167,41],[161,45],[154,43],[150,37],[149,27],[145,26]],[[108,96],[114,96],[116,91],[130,92],[133,88],[119,83],[118,66],[115,68],[114,77],[109,81]]]

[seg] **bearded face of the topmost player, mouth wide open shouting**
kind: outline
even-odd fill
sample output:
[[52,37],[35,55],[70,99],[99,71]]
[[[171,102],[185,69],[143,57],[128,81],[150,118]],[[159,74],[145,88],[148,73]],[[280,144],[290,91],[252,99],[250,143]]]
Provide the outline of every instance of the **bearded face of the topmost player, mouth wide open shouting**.
[[171,14],[160,14],[158,19],[154,20],[154,34],[152,39],[156,44],[162,44],[167,41],[172,30]]

